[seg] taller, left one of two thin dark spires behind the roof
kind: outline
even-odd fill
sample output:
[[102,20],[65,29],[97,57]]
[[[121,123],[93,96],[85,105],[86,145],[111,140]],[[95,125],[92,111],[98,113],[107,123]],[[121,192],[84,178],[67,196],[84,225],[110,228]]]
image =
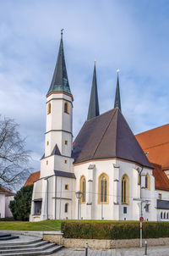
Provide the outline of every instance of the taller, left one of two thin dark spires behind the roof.
[[99,114],[100,113],[99,113],[99,100],[98,100],[98,92],[97,92],[96,69],[94,66],[93,81],[92,81],[91,93],[90,93],[90,106],[89,106],[87,120],[90,120]]

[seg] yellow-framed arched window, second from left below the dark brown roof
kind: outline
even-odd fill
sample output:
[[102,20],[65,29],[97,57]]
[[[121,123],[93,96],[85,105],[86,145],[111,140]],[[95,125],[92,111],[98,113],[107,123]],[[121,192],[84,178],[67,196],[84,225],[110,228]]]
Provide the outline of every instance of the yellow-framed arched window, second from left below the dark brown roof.
[[98,203],[109,202],[109,178],[105,173],[99,176],[99,197]]

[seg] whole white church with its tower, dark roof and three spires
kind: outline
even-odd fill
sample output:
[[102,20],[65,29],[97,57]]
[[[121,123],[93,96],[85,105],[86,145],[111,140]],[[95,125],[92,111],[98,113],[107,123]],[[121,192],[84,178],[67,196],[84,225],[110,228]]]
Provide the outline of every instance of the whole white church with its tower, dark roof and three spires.
[[88,118],[74,142],[73,102],[62,35],[46,95],[45,153],[34,183],[30,221],[139,220],[140,215],[167,220],[169,181],[168,190],[155,187],[155,167],[121,112],[118,75],[114,109],[100,114],[94,68]]

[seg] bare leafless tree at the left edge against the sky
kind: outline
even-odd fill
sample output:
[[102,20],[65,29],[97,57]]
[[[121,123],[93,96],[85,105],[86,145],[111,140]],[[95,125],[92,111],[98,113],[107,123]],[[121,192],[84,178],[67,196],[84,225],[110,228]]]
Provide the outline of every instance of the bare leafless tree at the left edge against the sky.
[[30,154],[17,128],[14,120],[0,117],[0,185],[10,189],[21,185],[30,173]]

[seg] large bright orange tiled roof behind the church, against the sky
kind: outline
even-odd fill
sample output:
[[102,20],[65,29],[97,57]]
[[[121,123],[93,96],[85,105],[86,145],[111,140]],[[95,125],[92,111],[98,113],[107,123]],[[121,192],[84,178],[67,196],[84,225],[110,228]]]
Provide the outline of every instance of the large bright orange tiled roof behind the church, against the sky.
[[161,164],[162,170],[169,169],[169,125],[162,125],[136,135],[144,153],[149,152],[152,163]]

